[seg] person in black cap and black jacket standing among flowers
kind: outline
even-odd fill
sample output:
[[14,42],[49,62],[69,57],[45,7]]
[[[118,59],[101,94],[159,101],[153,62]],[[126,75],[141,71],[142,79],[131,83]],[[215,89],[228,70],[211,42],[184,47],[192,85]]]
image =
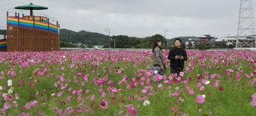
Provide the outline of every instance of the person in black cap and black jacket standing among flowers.
[[187,61],[187,52],[185,49],[180,48],[182,40],[176,38],[174,41],[175,47],[170,49],[168,59],[170,60],[170,73],[177,73],[179,76],[180,72],[183,72],[184,61]]

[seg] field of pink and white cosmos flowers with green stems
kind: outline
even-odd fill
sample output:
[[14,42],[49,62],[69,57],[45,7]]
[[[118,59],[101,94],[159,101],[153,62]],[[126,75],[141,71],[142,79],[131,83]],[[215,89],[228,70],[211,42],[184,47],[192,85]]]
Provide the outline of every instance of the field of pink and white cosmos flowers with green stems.
[[186,50],[182,78],[152,51],[0,53],[0,115],[255,115],[256,52]]

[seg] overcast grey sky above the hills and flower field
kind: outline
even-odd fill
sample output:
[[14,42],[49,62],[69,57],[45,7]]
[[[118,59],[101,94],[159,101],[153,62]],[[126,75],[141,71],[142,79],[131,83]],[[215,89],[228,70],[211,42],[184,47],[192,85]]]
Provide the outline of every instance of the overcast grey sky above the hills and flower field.
[[[0,28],[6,28],[9,8],[30,1],[0,0]],[[35,12],[55,17],[61,28],[101,34],[108,34],[104,28],[110,28],[110,35],[134,37],[164,35],[167,29],[167,39],[233,36],[239,16],[239,0],[34,0],[34,4],[49,7]]]

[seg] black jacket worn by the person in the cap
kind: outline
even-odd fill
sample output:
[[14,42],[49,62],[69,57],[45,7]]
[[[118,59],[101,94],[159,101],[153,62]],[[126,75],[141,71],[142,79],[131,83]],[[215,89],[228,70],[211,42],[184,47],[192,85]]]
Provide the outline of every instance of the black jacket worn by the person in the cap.
[[[182,55],[184,59],[175,59],[176,55]],[[174,70],[179,70],[177,67],[181,67],[182,71],[184,69],[184,61],[187,61],[187,52],[185,52],[185,49],[178,49],[174,47],[173,49],[170,49],[168,59],[170,60],[170,67],[172,67]]]

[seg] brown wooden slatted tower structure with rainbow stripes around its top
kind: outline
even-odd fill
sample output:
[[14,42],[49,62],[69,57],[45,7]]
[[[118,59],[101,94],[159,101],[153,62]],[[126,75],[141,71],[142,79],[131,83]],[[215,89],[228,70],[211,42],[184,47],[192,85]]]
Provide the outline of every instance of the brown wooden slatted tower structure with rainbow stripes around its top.
[[[16,13],[17,14],[17,13]],[[7,51],[47,52],[60,50],[59,24],[44,16],[8,16]],[[39,19],[38,19],[39,17]]]

